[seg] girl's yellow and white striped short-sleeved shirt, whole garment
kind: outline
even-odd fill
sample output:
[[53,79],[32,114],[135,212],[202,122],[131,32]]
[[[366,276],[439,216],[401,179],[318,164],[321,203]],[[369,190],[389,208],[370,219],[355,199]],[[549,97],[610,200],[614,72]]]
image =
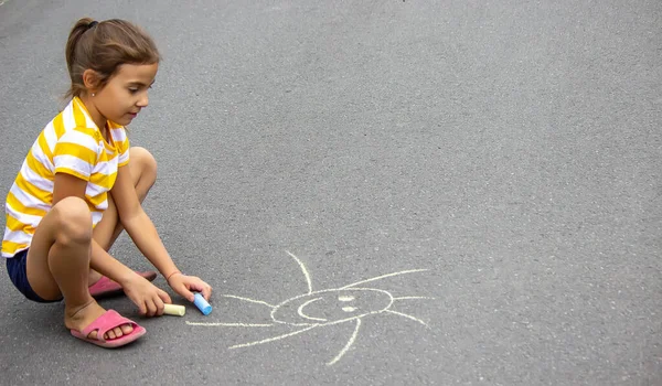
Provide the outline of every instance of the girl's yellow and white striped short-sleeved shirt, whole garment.
[[85,201],[93,226],[108,208],[108,191],[117,169],[129,163],[129,140],[122,126],[108,121],[109,140],[75,97],[39,135],[28,152],[4,205],[7,226],[2,257],[13,257],[30,247],[34,229],[53,205],[55,173],[87,181]]

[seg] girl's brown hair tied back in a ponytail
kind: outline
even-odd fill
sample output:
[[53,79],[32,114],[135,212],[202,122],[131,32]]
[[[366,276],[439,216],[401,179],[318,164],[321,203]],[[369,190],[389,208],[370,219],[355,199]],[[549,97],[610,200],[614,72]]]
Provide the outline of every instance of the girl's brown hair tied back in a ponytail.
[[78,20],[70,33],[65,55],[72,78],[65,98],[85,92],[85,69],[97,73],[96,86],[103,88],[122,64],[154,64],[161,60],[157,45],[142,29],[119,19]]

